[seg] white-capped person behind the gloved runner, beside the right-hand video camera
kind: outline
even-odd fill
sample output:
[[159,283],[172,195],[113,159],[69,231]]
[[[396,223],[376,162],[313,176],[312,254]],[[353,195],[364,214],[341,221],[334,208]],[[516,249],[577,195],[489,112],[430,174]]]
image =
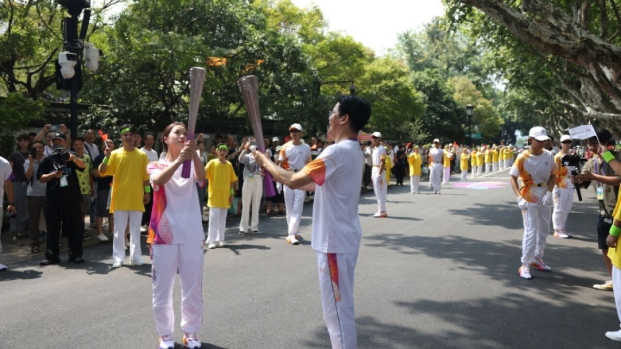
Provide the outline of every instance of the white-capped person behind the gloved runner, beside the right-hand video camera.
[[[554,236],[558,238],[568,238],[571,234],[565,230],[565,222],[567,215],[571,211],[574,202],[574,184],[571,183],[569,175],[571,174],[571,166],[563,166],[563,156],[569,155],[571,148],[571,137],[568,135],[561,136],[561,150],[554,156],[554,161],[558,167],[556,174],[556,185],[552,191],[554,199],[554,210],[552,211],[552,225],[554,227]],[[578,170],[578,169],[576,169]]]

